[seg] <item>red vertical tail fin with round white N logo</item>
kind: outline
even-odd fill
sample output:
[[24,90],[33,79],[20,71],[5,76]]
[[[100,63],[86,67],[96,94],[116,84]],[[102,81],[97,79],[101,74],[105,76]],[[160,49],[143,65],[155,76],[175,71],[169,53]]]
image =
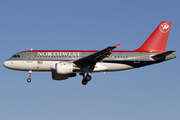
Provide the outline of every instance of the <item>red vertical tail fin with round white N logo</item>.
[[136,52],[165,52],[171,21],[164,21],[154,30]]

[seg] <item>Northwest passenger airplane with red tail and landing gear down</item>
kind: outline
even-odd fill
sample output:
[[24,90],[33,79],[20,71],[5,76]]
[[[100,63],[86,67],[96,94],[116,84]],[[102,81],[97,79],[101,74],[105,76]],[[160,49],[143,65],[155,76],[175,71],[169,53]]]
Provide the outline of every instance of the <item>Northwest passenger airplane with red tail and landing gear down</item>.
[[53,80],[65,80],[83,76],[86,85],[89,73],[122,71],[152,65],[176,58],[175,50],[166,51],[171,21],[163,21],[143,45],[133,51],[113,51],[119,45],[103,50],[27,50],[14,54],[4,62],[9,69],[28,71],[31,82],[32,71],[50,71]]

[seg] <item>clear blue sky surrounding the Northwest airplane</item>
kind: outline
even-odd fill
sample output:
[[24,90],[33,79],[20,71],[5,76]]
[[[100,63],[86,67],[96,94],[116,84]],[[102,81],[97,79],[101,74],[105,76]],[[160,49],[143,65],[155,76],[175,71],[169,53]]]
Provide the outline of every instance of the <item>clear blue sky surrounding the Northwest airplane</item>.
[[[178,120],[179,0],[1,0],[0,119]],[[53,81],[50,72],[4,68],[14,53],[33,49],[134,50],[161,21],[172,21],[166,50],[177,58],[139,69]]]

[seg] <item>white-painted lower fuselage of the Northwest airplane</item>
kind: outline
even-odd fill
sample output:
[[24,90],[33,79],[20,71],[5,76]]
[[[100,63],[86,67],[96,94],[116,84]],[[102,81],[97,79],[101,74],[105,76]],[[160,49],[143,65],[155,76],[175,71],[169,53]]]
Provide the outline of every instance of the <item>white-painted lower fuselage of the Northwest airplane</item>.
[[[55,68],[55,63],[60,61],[6,61],[7,68],[14,70],[22,71],[52,71],[54,70],[52,65]],[[102,71],[120,71],[132,69],[133,67],[126,64],[119,63],[97,63],[93,72],[102,72]]]

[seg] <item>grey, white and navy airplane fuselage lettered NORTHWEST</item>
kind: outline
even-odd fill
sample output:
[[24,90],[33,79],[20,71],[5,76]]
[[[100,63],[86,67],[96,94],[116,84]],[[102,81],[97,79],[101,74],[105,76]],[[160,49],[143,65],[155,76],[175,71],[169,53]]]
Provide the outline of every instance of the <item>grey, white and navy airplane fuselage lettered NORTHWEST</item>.
[[[55,70],[56,63],[75,61],[95,52],[97,51],[30,50],[16,53],[10,59],[5,61],[4,65],[7,68],[20,71],[53,71]],[[111,51],[111,53],[112,54],[105,59],[98,61],[94,70],[91,72],[127,70],[175,58],[175,55],[173,54],[166,58],[156,60],[151,58],[151,56],[158,53],[133,51]],[[75,64],[73,68],[74,73],[83,72]]]

